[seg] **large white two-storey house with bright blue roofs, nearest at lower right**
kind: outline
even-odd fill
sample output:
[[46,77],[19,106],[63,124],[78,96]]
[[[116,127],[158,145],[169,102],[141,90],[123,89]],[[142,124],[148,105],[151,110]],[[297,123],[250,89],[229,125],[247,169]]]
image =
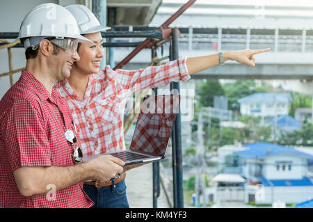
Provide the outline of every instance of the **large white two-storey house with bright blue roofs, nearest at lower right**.
[[244,163],[241,175],[247,181],[246,202],[298,203],[313,197],[313,177],[308,171],[312,155],[264,142],[246,144],[243,148],[247,149],[235,154]]

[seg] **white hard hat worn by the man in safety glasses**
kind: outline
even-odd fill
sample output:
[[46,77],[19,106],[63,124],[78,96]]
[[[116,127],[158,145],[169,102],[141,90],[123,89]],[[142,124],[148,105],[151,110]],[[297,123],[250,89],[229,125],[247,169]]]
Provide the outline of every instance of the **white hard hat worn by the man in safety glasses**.
[[74,38],[78,42],[91,42],[79,33],[76,19],[66,8],[54,3],[44,3],[33,8],[23,19],[19,39],[26,38],[24,47],[38,45],[48,37]]

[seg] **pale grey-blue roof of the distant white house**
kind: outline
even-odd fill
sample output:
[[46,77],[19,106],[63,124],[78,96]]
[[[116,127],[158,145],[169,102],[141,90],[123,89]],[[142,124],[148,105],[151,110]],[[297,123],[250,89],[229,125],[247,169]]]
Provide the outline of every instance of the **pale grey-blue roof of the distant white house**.
[[238,102],[292,102],[292,98],[289,93],[255,93],[240,98]]

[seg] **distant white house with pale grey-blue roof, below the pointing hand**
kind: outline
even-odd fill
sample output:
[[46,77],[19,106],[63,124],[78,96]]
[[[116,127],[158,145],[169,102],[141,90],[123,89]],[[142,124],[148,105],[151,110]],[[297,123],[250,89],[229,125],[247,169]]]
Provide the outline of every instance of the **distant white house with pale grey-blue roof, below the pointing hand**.
[[241,115],[260,117],[262,122],[267,122],[275,116],[288,115],[292,99],[288,93],[255,93],[238,102]]

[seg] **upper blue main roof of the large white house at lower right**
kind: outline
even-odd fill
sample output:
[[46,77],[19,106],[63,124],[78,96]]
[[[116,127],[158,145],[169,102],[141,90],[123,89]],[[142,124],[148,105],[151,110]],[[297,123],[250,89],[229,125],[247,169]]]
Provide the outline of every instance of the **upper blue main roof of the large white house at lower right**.
[[247,150],[235,152],[237,155],[239,155],[239,157],[243,158],[262,158],[275,154],[289,153],[302,155],[304,157],[307,157],[307,159],[313,159],[312,155],[305,152],[300,152],[298,150],[295,150],[294,148],[289,148],[284,145],[277,145],[272,143],[257,142],[245,144],[243,145],[243,148],[247,148]]

